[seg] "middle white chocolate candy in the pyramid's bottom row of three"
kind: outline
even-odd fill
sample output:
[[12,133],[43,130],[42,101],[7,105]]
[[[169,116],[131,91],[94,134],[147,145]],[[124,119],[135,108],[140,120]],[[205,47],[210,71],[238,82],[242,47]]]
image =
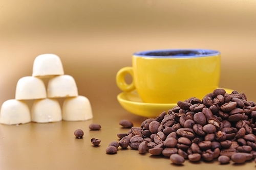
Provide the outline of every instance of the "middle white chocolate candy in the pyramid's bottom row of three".
[[31,121],[36,123],[59,122],[61,108],[56,99],[35,100],[31,109]]

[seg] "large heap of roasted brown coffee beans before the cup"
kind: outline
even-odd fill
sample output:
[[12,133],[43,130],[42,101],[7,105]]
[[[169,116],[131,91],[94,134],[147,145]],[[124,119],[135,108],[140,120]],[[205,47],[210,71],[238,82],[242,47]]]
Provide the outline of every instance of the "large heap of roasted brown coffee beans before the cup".
[[255,134],[256,104],[247,101],[244,93],[216,89],[202,100],[179,101],[176,107],[117,136],[121,148],[169,157],[175,164],[187,159],[216,159],[224,164],[255,159]]

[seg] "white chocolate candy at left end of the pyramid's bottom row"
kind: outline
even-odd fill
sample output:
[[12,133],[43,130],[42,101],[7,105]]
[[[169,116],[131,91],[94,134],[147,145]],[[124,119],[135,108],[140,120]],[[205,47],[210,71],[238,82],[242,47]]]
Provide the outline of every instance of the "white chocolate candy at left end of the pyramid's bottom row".
[[3,103],[0,111],[1,124],[17,125],[29,122],[31,122],[30,111],[26,102],[11,99]]

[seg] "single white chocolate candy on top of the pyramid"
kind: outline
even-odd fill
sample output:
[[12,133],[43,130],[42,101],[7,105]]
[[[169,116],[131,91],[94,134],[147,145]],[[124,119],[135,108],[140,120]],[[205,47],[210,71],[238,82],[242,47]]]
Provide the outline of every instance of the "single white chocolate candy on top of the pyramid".
[[63,74],[63,66],[60,58],[57,55],[42,54],[35,58],[32,76],[49,78]]

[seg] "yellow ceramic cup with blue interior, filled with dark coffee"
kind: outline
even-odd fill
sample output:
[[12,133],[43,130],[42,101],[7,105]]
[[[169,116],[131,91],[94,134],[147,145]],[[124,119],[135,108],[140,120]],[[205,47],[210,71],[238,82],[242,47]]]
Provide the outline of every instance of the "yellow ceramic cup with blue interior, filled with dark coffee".
[[[145,103],[177,103],[190,97],[202,99],[218,88],[220,52],[214,50],[156,50],[132,56],[132,67],[116,75],[122,91],[137,90]],[[125,75],[132,76],[127,84]]]

